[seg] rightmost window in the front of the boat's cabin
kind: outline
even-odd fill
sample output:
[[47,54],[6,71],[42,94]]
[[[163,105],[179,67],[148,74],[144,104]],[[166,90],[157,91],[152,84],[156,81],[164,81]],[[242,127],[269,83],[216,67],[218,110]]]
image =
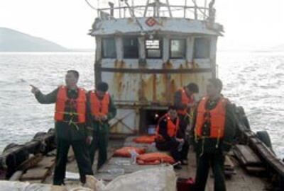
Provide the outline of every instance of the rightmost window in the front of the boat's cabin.
[[210,40],[206,37],[195,38],[195,59],[207,59],[210,56]]

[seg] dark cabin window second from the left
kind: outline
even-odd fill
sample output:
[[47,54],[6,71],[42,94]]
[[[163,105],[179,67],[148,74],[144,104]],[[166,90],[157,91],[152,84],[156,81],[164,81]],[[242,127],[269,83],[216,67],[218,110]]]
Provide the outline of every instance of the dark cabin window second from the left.
[[124,58],[138,58],[137,37],[124,38]]

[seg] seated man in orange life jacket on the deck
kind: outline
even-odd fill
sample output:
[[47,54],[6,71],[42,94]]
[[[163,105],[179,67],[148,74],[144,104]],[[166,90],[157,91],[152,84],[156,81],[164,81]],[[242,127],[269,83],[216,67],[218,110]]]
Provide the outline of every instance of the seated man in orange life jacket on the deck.
[[[160,118],[156,130],[155,146],[160,151],[170,151],[171,156],[176,162],[182,158],[186,158],[188,152],[188,144],[185,139],[177,137],[180,128],[180,120],[178,119],[178,112],[175,106],[170,106],[168,112]],[[180,169],[180,165],[175,166]]]

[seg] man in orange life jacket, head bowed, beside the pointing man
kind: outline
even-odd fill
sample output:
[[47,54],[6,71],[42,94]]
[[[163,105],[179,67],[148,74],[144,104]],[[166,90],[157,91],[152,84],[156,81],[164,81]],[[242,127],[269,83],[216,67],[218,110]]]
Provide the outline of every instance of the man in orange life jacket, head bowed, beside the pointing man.
[[89,154],[91,163],[94,163],[94,154],[99,150],[97,169],[107,161],[107,144],[109,142],[109,120],[115,117],[116,108],[107,92],[109,86],[105,82],[97,84],[95,91],[89,91],[89,129],[92,129],[92,137],[88,137],[90,143]]

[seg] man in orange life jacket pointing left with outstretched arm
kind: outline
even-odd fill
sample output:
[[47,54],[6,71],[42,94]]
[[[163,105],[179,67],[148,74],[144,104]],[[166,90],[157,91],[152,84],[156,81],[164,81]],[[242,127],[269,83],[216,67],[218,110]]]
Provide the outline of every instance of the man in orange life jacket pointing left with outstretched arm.
[[32,86],[32,93],[39,103],[55,103],[55,136],[57,143],[54,185],[64,184],[67,154],[70,146],[77,160],[80,180],[86,182],[85,175],[92,175],[91,161],[86,145],[86,91],[77,87],[79,73],[67,71],[66,86],[60,86],[53,92],[43,95],[38,88]]

